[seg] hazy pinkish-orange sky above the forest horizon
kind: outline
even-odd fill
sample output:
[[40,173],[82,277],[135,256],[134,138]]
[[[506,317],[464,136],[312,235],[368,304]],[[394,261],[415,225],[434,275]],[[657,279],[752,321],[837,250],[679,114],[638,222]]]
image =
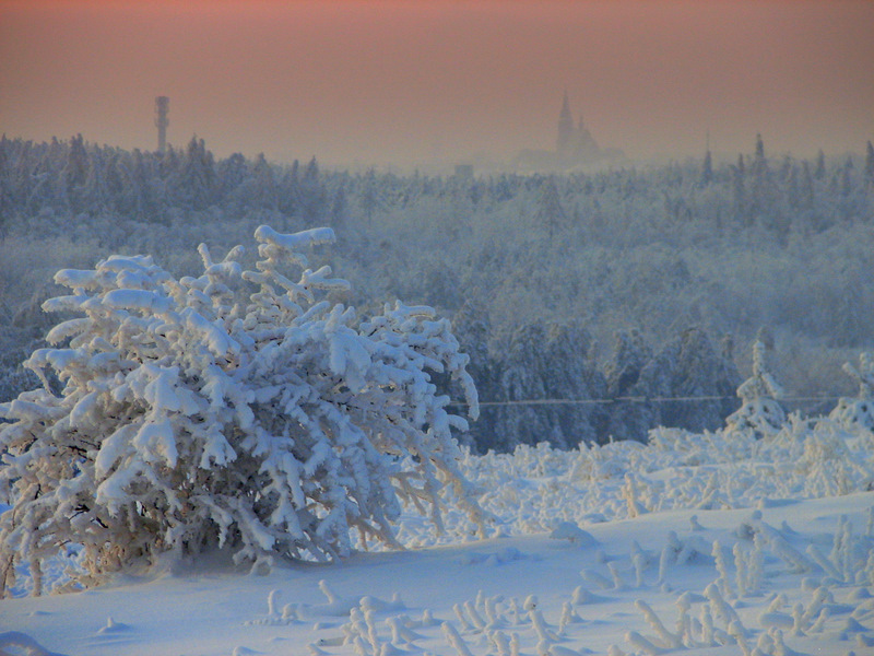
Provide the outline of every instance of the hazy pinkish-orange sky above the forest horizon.
[[0,0],[0,131],[328,164],[551,149],[862,152],[874,1]]

